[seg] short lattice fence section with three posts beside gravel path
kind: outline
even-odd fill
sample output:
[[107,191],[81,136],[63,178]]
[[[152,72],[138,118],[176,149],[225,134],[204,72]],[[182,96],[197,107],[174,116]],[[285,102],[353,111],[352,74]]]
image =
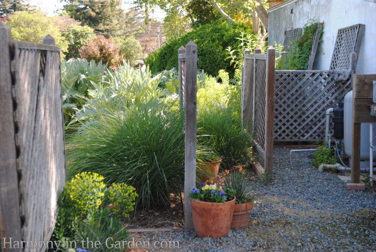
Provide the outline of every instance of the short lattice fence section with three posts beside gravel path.
[[274,62],[275,50],[261,54],[256,49],[244,53],[242,68],[241,118],[249,133],[254,134],[254,148],[265,160],[265,172],[272,174],[274,121]]

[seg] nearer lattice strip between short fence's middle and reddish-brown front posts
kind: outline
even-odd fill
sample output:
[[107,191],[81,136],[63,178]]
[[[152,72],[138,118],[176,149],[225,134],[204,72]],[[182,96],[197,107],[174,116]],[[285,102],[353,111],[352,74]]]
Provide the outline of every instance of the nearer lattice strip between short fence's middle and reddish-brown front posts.
[[266,58],[255,59],[255,114],[253,118],[254,141],[265,150],[265,66]]

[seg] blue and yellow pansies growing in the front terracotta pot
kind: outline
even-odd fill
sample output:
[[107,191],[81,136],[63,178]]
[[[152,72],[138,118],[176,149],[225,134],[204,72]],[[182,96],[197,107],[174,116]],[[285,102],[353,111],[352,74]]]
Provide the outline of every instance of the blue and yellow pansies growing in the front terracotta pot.
[[227,187],[217,187],[217,184],[207,185],[201,183],[200,187],[192,188],[190,192],[191,199],[205,201],[205,202],[217,202],[223,203],[230,201],[234,198],[235,190]]

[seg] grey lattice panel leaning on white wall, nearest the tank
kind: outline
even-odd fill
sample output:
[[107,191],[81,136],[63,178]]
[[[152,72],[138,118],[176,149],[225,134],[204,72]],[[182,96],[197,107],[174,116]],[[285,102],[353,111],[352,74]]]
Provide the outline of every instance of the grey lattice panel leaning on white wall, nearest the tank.
[[364,27],[364,24],[355,24],[338,30],[330,70],[350,69],[351,53],[356,52],[357,58],[359,56]]

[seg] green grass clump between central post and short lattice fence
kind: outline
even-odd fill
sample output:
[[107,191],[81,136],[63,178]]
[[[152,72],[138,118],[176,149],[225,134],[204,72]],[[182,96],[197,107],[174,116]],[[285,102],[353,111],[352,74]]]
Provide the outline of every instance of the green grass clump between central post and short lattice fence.
[[251,137],[241,127],[240,116],[229,107],[204,107],[197,113],[199,144],[207,145],[222,157],[221,167],[229,169],[250,159]]

